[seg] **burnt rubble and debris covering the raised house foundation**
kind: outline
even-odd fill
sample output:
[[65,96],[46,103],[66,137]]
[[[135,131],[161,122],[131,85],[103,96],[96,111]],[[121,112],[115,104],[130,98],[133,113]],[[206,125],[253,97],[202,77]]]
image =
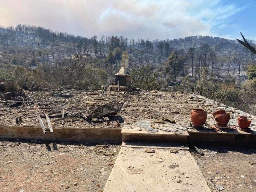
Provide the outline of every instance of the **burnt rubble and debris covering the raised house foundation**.
[[[72,97],[62,97],[62,95]],[[237,117],[247,116],[252,119],[251,129],[256,129],[256,117],[243,111],[214,102],[193,93],[158,92],[156,90],[114,92],[101,90],[26,90],[33,104],[22,104],[10,107],[0,103],[0,125],[39,126],[37,115],[45,121],[48,114],[53,128],[84,127],[84,128],[127,128],[144,130],[148,132],[175,132],[201,131],[192,126],[190,111],[192,109],[205,109],[207,124],[204,131],[213,130],[216,125],[212,113],[225,109],[230,114],[229,126],[238,128]],[[61,93],[61,94],[60,94]],[[106,107],[112,103],[111,110]],[[104,107],[105,106],[105,107]],[[64,121],[63,121],[64,120]],[[45,121],[46,122],[46,121]],[[219,130],[235,131],[236,129]]]

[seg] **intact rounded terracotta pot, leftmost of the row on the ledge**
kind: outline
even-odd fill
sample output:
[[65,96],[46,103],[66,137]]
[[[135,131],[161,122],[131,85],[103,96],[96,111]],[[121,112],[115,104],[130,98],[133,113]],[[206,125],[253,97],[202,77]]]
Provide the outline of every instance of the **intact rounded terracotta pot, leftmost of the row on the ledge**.
[[203,109],[193,109],[190,113],[190,119],[195,127],[202,127],[206,122],[207,113]]

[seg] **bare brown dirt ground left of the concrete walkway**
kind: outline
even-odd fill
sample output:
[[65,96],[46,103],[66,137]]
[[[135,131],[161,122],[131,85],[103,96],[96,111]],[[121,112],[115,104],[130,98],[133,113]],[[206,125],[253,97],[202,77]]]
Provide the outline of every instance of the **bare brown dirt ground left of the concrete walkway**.
[[103,191],[118,144],[0,141],[0,191]]

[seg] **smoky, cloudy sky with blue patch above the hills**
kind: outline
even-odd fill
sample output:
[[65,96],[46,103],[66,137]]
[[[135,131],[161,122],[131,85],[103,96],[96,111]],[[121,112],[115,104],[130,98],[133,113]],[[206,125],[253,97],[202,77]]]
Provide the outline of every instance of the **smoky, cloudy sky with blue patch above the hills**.
[[92,37],[256,40],[256,0],[0,0],[0,25],[30,24]]

